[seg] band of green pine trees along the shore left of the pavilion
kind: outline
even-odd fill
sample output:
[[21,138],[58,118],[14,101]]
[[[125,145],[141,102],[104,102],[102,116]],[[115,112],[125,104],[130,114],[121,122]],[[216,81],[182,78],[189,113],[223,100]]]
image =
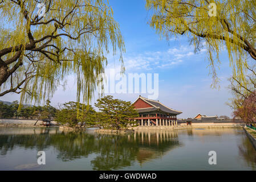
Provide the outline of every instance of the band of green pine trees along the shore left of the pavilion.
[[5,105],[0,102],[1,118],[26,118],[26,119],[54,119],[61,125],[68,127],[97,126],[100,129],[127,129],[136,126],[132,119],[138,117],[137,111],[131,102],[114,99],[113,96],[105,96],[95,103],[99,111],[91,105],[78,102],[66,102],[59,109],[52,107],[47,100],[45,106],[22,106],[19,104]]

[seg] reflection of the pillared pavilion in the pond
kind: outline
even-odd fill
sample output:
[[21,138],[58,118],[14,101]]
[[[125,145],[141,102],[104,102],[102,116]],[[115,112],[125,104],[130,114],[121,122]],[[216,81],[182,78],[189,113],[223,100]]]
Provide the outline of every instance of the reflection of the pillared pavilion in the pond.
[[140,164],[161,158],[166,152],[181,146],[178,133],[173,130],[136,130],[134,135],[128,136],[128,140],[136,142],[139,146],[136,158]]

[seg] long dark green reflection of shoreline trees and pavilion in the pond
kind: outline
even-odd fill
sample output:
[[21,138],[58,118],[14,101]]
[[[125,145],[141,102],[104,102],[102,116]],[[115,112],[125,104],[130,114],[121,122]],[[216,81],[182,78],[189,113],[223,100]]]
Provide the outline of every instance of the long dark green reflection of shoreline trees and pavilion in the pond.
[[16,148],[52,150],[62,162],[87,158],[94,154],[94,170],[113,170],[134,163],[161,158],[166,152],[182,146],[177,131],[139,130],[134,134],[108,135],[91,132],[61,133],[58,129],[0,129],[1,155]]

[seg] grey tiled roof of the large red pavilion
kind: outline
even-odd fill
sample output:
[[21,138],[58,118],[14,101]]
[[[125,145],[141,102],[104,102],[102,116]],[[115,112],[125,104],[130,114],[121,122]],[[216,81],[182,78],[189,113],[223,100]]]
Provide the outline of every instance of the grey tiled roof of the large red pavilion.
[[[143,109],[137,109],[137,111],[139,113],[144,113],[144,112],[148,112],[148,111],[155,111],[155,110],[161,110],[161,111],[164,111],[165,113],[170,113],[170,114],[181,114],[182,113],[182,111],[171,109],[171,108],[165,106],[164,104],[162,104],[159,101],[149,100],[148,98],[141,97],[141,96],[139,96],[139,98],[141,98],[141,100],[143,100],[144,102],[147,102],[149,105],[152,106],[152,107],[147,107],[147,108],[143,108]],[[137,100],[139,98],[137,98]]]

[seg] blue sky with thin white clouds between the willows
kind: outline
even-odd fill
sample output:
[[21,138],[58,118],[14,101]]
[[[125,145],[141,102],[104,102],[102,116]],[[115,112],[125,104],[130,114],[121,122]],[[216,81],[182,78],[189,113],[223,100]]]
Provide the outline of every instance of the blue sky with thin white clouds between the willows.
[[[196,55],[188,39],[183,36],[177,40],[160,40],[147,23],[150,16],[145,9],[144,0],[109,0],[114,18],[120,24],[126,52],[124,63],[128,73],[159,73],[159,98],[166,106],[183,113],[178,118],[194,117],[198,113],[205,115],[231,115],[232,110],[226,105],[231,98],[227,78],[231,76],[229,58],[224,52],[222,64],[218,70],[221,79],[220,89],[210,88],[208,60],[205,49]],[[108,56],[107,70],[119,70],[119,61]],[[139,94],[112,94],[116,98],[135,101]],[[147,97],[147,94],[141,94]],[[17,94],[7,94],[1,100],[18,100]],[[92,104],[97,99],[97,93]],[[67,78],[66,89],[59,88],[52,98],[52,105],[66,101],[76,101],[74,78]]]

